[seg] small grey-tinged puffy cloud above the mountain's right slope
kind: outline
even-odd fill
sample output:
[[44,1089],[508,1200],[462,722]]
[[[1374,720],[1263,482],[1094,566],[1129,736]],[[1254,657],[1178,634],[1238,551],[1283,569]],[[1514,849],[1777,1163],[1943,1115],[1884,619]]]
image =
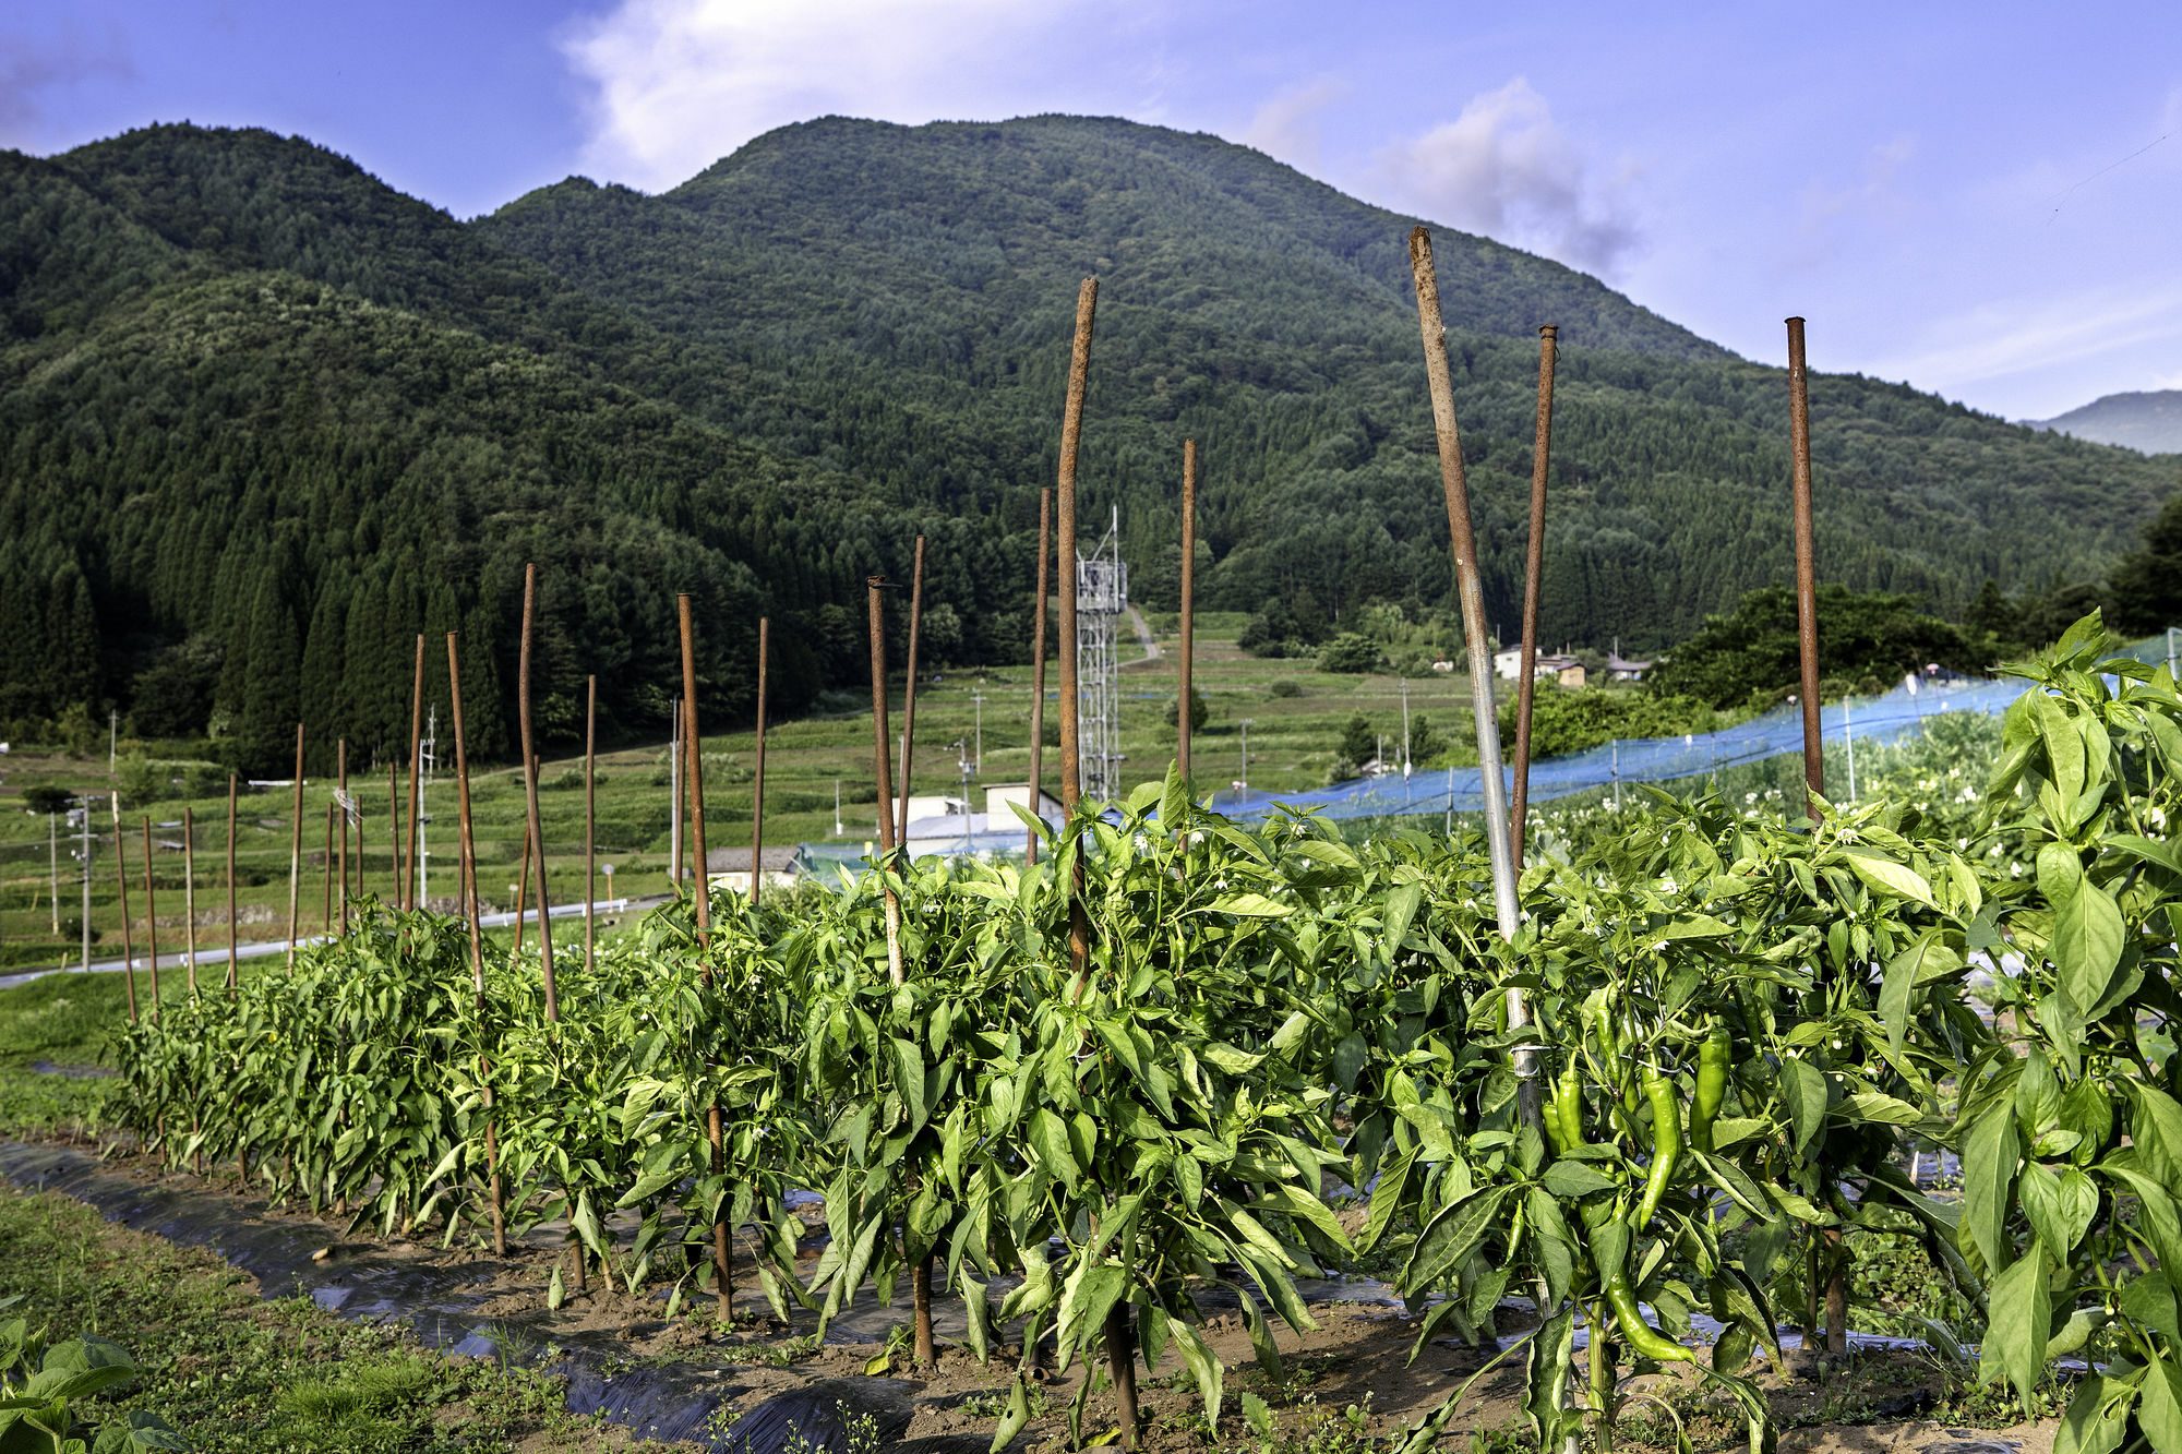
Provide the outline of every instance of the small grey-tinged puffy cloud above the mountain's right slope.
[[1418,212],[1610,273],[1636,245],[1626,175],[1599,183],[1530,81],[1473,96],[1462,116],[1394,146],[1379,170]]

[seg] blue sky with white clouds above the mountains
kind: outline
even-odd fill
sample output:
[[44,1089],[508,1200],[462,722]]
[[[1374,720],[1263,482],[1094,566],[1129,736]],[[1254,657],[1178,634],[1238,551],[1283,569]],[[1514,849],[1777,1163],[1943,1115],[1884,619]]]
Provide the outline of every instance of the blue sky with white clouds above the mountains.
[[2182,389],[2182,7],[70,0],[0,144],[262,124],[458,216],[829,111],[1213,131],[1599,273],[1750,358],[2007,417]]

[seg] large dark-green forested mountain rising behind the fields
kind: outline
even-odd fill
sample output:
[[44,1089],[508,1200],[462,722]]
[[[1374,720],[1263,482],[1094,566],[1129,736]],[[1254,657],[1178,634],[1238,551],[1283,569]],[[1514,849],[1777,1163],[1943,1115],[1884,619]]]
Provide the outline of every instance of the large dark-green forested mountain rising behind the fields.
[[[1207,603],[1303,631],[1438,607],[1444,515],[1410,218],[1218,138],[1119,120],[759,138],[661,196],[570,179],[456,223],[262,131],[0,153],[0,729],[118,705],[279,762],[388,747],[408,640],[471,642],[511,751],[521,563],[541,725],[663,731],[672,596],[707,712],[860,662],[864,574],[932,535],[958,659],[1028,640],[1076,282],[1102,279],[1084,509],[1119,504],[1159,605],[1180,439],[1204,450]],[[1562,367],[1545,633],[1652,646],[1785,579],[1787,389],[1527,253],[1440,231],[1486,585],[1512,622],[1538,323]],[[1824,321],[1813,321],[1824,360]],[[1813,376],[1820,561],[1962,609],[2103,574],[2169,463]],[[434,635],[428,655],[441,675]],[[20,731],[20,729],[17,729]]]

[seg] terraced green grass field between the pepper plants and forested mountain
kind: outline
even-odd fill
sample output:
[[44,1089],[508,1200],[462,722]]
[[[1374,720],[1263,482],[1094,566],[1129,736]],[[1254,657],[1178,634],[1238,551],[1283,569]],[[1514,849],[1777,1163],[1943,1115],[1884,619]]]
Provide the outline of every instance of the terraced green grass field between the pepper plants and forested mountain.
[[[1362,714],[1386,734],[1388,753],[1399,753],[1403,731],[1403,683],[1390,675],[1331,675],[1307,659],[1257,659],[1235,646],[1242,616],[1207,613],[1196,642],[1196,683],[1207,699],[1209,720],[1194,738],[1196,777],[1204,790],[1226,788],[1244,777],[1242,742],[1248,720],[1248,782],[1252,788],[1318,788],[1335,762],[1344,723]],[[1176,692],[1174,618],[1154,618],[1156,657],[1139,642],[1122,644],[1122,749],[1128,755],[1124,784],[1165,775],[1174,755],[1167,712]],[[1056,677],[1047,675],[1047,736],[1058,725]],[[1431,675],[1407,681],[1410,725],[1429,720],[1442,740],[1438,762],[1475,762],[1468,714],[1468,679]],[[823,707],[829,703],[820,703]],[[866,843],[875,836],[875,777],[871,766],[871,710],[858,710],[847,694],[831,699],[838,710],[818,710],[779,720],[766,738],[766,843]],[[445,714],[441,714],[445,720]],[[901,692],[892,703],[892,727],[901,727]],[[982,729],[980,729],[982,727]],[[914,790],[960,788],[964,744],[978,768],[973,792],[984,784],[1023,782],[1030,775],[1030,668],[949,668],[916,692]],[[978,747],[982,742],[982,755]],[[122,753],[133,744],[124,742]],[[157,744],[148,744],[157,758]],[[441,760],[454,753],[441,744]],[[705,734],[705,803],[711,847],[748,845],[755,734]],[[179,773],[185,764],[175,764]],[[1045,751],[1045,782],[1058,786],[1058,749]],[[83,882],[72,856],[81,838],[59,823],[57,845],[48,843],[48,821],[22,810],[22,790],[39,784],[72,792],[107,795],[116,788],[105,760],[70,760],[15,751],[0,758],[0,967],[81,963]],[[556,904],[583,897],[583,758],[552,758],[541,768],[541,817],[548,845],[548,880]],[[393,891],[388,856],[386,768],[358,766],[349,777],[362,801],[362,882],[373,893]],[[840,795],[840,832],[834,801]],[[303,882],[299,919],[305,932],[325,921],[325,814],[332,784],[310,782],[303,790]],[[406,784],[404,784],[406,801]],[[975,808],[982,810],[982,797]],[[196,856],[196,943],[199,950],[227,945],[227,799],[168,799],[122,812],[122,856],[129,869],[129,919],[135,954],[144,954],[144,836],[153,823],[159,950],[183,948],[183,810],[194,819]],[[236,825],[236,917],[242,941],[284,939],[288,932],[288,788],[249,792]],[[428,784],[423,795],[425,891],[452,897],[456,865],[452,773]],[[663,742],[602,753],[598,762],[598,862],[613,865],[613,893],[644,897],[668,891],[668,749]],[[473,773],[471,817],[478,834],[480,889],[487,904],[508,908],[515,899],[524,841],[524,786],[513,766]],[[94,958],[118,958],[122,948],[122,891],[113,869],[113,821],[94,814],[98,834],[92,865]],[[55,862],[57,858],[57,862]],[[338,858],[338,854],[336,854]],[[55,904],[55,880],[59,904]],[[600,897],[607,880],[600,878]],[[556,926],[556,937],[561,934]]]

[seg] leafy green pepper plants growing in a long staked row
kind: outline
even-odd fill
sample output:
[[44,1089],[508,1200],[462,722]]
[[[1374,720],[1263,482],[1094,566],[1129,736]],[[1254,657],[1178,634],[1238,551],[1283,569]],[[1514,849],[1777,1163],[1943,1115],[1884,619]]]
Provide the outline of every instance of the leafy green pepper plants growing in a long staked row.
[[[1610,1447],[1623,1373],[1687,1362],[1765,1450],[1752,1356],[1778,1360],[1791,1312],[1842,1338],[1815,1288],[1855,1236],[1907,1233],[1983,1310],[1988,1378],[2029,1397],[2095,1358],[2060,1454],[2182,1454],[2182,701],[2110,644],[2086,618],[2025,668],[1966,834],[1894,801],[1783,821],[1654,795],[1538,856],[1506,941],[1475,834],[1346,845],[1170,777],[1028,871],[716,895],[707,943],[659,910],[563,967],[559,1024],[532,963],[487,948],[476,996],[460,921],[373,908],[292,978],[135,1026],[131,1111],[175,1161],[386,1231],[482,1236],[497,1177],[513,1231],[565,1218],[633,1290],[703,1286],[720,1218],[820,1330],[908,1275],[925,1336],[945,1295],[980,1356],[1021,1321],[1063,1367],[1102,1360],[1078,1439],[1100,1382],[1130,1434],[1137,1358],[1170,1351],[1218,1423],[1200,1299],[1237,1299],[1279,1371],[1272,1321],[1311,1327],[1298,1279],[1370,1260],[1425,1310],[1418,1347],[1534,1303],[1512,1347],[1540,1447]],[[1959,1153],[1959,1201],[1909,1181],[1911,1140]],[[825,1199],[812,1268],[792,1190]],[[1772,1306],[1785,1258],[1813,1306]],[[1709,1356],[1700,1310],[1726,1327]],[[1017,1384],[995,1450],[1023,1417]]]

